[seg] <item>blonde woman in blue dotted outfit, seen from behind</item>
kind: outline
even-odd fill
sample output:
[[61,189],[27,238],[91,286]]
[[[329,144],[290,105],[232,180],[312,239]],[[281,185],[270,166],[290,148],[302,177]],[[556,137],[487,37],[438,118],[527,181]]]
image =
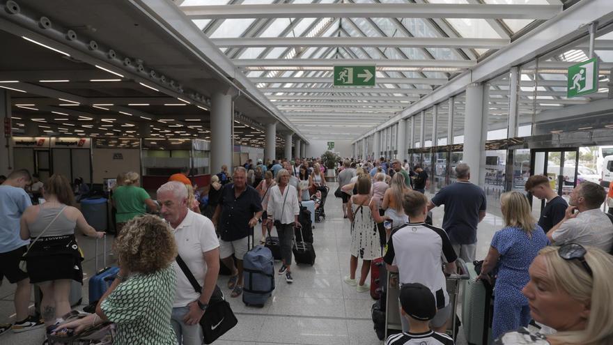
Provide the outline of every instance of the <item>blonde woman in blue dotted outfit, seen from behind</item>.
[[530,308],[522,289],[530,280],[530,264],[538,251],[549,244],[523,194],[515,191],[502,194],[500,206],[505,227],[494,234],[477,278],[489,280],[488,273],[499,267],[494,286],[494,339],[530,322]]

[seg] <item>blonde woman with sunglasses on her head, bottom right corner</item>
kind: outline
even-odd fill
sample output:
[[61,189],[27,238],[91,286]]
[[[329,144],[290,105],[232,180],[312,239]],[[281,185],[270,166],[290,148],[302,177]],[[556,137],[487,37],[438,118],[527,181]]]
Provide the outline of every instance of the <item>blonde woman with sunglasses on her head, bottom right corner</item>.
[[568,243],[545,247],[532,262],[522,290],[534,321],[557,333],[540,335],[526,328],[509,332],[496,344],[613,344],[613,256],[595,247]]

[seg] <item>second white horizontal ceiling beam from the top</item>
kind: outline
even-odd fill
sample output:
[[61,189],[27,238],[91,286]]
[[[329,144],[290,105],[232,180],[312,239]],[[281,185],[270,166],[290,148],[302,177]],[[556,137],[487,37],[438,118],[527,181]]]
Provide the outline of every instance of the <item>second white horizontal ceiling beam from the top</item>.
[[256,37],[212,38],[217,47],[386,47],[499,49],[511,43],[504,38],[439,37]]

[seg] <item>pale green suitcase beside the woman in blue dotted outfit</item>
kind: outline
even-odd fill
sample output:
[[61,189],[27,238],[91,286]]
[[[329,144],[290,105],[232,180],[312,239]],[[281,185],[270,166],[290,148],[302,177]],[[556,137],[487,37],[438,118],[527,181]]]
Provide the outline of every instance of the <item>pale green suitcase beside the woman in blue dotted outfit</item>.
[[466,263],[466,266],[470,277],[466,280],[462,303],[464,335],[468,344],[492,344],[492,293],[483,281],[475,282],[474,263]]

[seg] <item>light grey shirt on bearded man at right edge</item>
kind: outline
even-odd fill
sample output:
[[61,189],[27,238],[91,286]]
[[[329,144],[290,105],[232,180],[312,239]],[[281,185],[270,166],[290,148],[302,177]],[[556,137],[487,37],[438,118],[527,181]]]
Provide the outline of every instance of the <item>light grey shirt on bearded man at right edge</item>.
[[613,245],[613,223],[603,211],[593,208],[566,220],[552,233],[552,238],[555,245],[574,242],[609,252]]

